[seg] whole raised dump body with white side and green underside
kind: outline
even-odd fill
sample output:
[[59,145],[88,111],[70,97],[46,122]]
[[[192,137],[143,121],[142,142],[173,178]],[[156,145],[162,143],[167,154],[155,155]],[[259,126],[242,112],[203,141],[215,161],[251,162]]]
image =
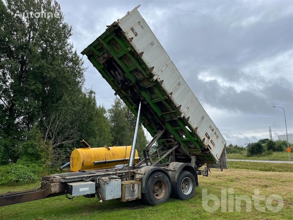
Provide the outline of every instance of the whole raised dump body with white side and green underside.
[[226,145],[137,6],[114,22],[82,51],[115,90],[115,95],[137,114],[166,150],[179,145],[175,160],[196,164],[217,163]]

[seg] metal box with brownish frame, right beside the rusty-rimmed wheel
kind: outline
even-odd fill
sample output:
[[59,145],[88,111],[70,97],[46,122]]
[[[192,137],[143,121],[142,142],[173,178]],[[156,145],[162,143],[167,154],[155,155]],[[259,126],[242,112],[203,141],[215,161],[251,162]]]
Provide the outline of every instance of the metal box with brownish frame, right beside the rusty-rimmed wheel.
[[128,180],[121,182],[122,196],[121,201],[126,202],[134,199],[140,199],[141,196],[141,182],[135,180]]

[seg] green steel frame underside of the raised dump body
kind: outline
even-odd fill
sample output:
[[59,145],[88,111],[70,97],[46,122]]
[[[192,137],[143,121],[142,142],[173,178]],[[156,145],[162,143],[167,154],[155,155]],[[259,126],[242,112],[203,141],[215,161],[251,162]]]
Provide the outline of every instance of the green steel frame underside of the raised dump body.
[[114,22],[81,54],[88,57],[115,90],[115,95],[119,95],[134,114],[137,115],[139,100],[142,101],[140,120],[151,136],[160,129],[166,130],[157,141],[160,146],[167,150],[180,143],[189,153],[189,156],[181,155],[181,160],[188,161],[191,155],[196,155],[200,166],[215,163],[212,154],[188,124],[188,119],[180,117],[178,106],[170,99],[172,94],[165,92],[161,86],[163,82],[153,80],[152,68],[149,69],[141,58],[143,52],[138,54],[134,50],[131,40]]

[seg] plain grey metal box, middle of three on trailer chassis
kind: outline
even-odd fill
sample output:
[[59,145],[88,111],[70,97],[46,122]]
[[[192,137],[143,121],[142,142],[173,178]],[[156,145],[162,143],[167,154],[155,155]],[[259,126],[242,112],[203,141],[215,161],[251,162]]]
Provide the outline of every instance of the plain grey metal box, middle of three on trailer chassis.
[[104,201],[121,197],[121,179],[99,180],[99,187]]

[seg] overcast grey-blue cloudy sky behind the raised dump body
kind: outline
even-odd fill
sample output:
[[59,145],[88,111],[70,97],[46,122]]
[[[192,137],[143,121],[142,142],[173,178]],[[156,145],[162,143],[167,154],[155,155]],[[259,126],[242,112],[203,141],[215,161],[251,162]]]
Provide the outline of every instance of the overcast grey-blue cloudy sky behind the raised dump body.
[[[144,17],[227,143],[293,133],[293,1],[59,1],[80,53],[141,4]],[[86,87],[114,91],[84,57]]]

